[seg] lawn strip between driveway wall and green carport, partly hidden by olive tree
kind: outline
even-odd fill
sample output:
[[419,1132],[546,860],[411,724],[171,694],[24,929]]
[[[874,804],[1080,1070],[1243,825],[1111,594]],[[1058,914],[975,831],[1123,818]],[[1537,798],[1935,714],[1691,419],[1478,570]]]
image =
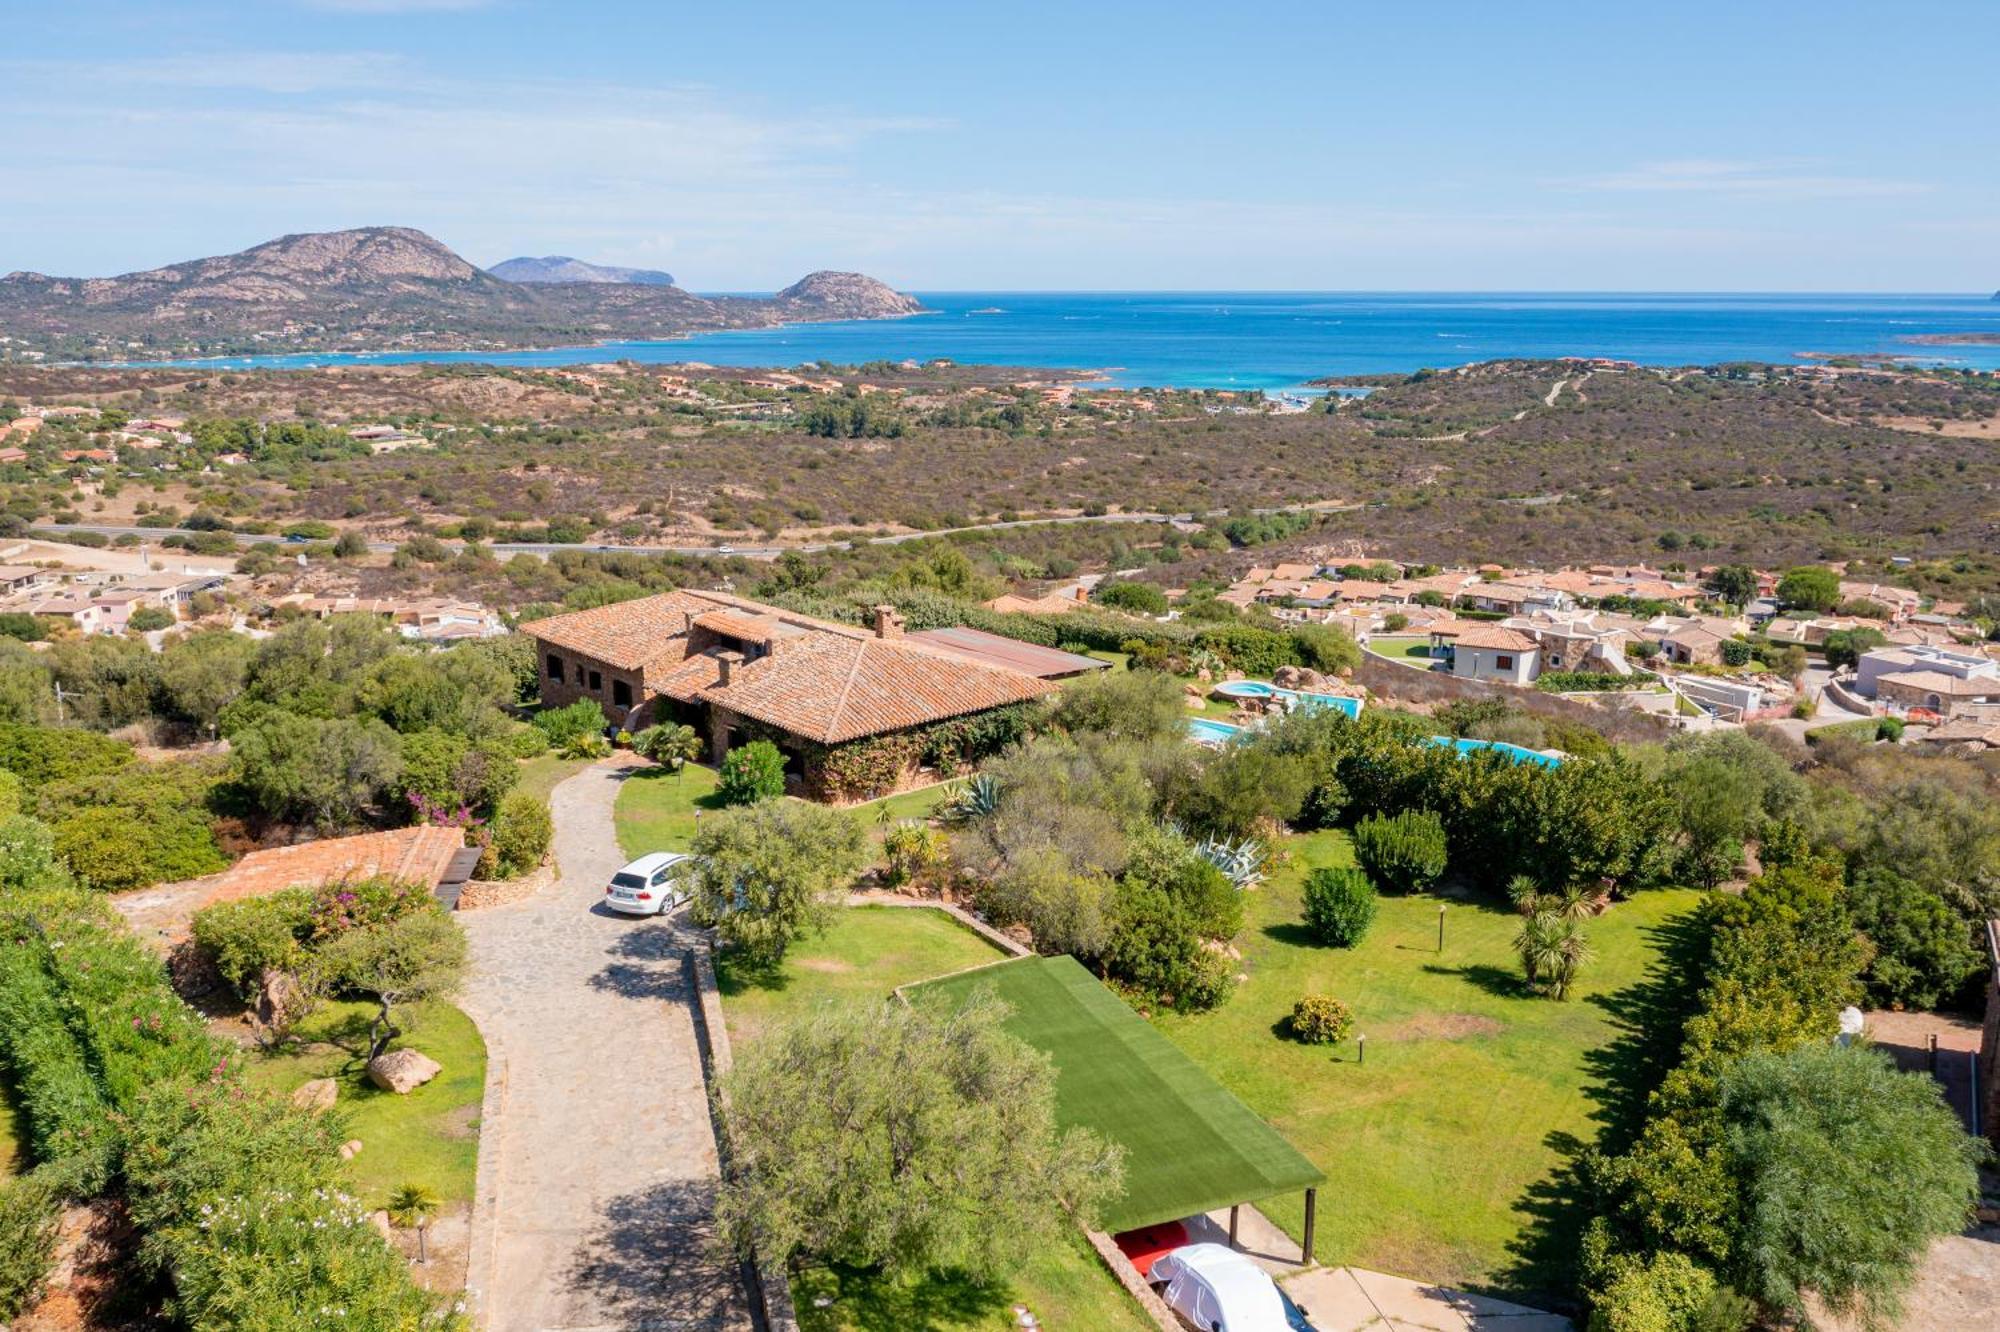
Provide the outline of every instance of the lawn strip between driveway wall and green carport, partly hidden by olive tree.
[[[738,1054],[758,1032],[822,1004],[878,1004],[912,980],[994,962],[1002,954],[944,912],[850,906],[820,938],[794,944],[778,976],[718,966],[722,1014]],[[1082,1234],[986,1284],[968,1278],[892,1282],[874,1272],[816,1268],[792,1288],[802,1332],[1000,1332],[1026,1304],[1064,1332],[1148,1332],[1144,1314],[1112,1282]],[[818,1298],[832,1300],[824,1308]]]

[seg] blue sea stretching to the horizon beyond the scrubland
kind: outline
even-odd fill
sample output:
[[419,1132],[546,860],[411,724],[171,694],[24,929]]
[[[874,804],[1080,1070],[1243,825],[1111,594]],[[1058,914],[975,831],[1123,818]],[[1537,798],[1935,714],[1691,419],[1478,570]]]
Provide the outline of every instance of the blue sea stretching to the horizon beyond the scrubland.
[[1912,346],[1910,334],[2000,332],[1988,296],[1664,296],[1398,292],[918,292],[904,320],[792,324],[664,342],[532,352],[240,356],[200,364],[606,360],[796,366],[930,360],[1098,370],[1120,386],[1282,390],[1322,374],[1406,374],[1498,356],[1612,356],[1654,366],[1900,352],[2000,368],[2000,344]]

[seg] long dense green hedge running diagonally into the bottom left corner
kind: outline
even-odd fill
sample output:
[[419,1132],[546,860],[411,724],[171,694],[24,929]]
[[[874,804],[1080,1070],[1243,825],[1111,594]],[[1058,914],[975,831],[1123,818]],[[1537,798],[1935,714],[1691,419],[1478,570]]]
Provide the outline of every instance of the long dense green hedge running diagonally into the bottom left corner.
[[340,1192],[338,1124],[252,1090],[100,898],[0,906],[0,1060],[74,1196],[122,1182],[196,1328],[452,1328]]

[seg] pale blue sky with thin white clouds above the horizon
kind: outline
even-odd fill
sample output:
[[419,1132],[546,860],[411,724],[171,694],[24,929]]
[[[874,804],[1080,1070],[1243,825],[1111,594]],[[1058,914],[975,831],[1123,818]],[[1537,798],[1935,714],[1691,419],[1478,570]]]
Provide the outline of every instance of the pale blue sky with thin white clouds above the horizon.
[[0,270],[396,222],[694,290],[2000,286],[1992,2],[0,18]]

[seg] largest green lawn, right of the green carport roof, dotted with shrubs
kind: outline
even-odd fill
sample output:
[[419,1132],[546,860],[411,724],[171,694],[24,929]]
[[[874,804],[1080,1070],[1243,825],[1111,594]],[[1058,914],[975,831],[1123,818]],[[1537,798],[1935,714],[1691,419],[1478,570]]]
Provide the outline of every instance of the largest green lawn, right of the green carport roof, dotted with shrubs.
[[[1300,926],[1304,870],[1350,864],[1344,834],[1290,840],[1294,864],[1250,896],[1248,982],[1220,1010],[1158,1026],[1328,1174],[1320,1262],[1452,1286],[1558,1290],[1574,1256],[1566,1164],[1622,1108],[1632,1012],[1664,968],[1672,918],[1698,894],[1658,890],[1588,924],[1596,962],[1576,996],[1524,994],[1520,918],[1478,902],[1382,898],[1360,948],[1324,948]],[[1294,1000],[1332,994],[1368,1036],[1300,1046]],[[1302,1196],[1264,1210],[1304,1226]]]

